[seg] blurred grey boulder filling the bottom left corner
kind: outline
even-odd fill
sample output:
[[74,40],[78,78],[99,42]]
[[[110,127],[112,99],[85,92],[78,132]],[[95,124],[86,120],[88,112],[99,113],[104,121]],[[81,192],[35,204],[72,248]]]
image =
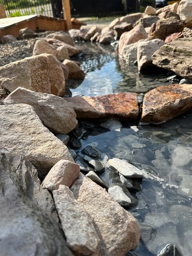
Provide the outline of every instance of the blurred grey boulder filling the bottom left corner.
[[57,222],[33,198],[34,172],[23,158],[0,154],[1,255],[72,256]]

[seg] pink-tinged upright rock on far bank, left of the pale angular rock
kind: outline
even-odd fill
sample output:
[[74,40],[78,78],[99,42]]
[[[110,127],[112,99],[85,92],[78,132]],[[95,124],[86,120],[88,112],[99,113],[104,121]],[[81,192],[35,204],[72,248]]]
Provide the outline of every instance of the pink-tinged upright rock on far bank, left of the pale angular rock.
[[147,33],[142,25],[137,25],[128,32],[122,33],[119,38],[119,54],[123,54],[123,48],[141,39],[147,38]]

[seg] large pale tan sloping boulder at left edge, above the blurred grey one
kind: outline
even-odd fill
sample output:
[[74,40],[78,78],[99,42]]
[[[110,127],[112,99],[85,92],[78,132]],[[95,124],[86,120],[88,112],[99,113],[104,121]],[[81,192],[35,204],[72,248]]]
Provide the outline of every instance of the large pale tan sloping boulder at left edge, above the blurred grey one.
[[40,121],[27,104],[0,105],[1,152],[23,155],[44,177],[61,159],[74,162],[65,144]]

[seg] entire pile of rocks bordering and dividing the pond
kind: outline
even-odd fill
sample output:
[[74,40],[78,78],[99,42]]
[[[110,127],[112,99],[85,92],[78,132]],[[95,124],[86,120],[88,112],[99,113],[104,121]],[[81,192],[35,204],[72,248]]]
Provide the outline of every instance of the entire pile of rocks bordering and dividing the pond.
[[[184,30],[191,28],[190,8],[190,2],[182,0],[179,6],[157,12],[147,7],[145,14],[117,18],[102,30],[80,30],[78,36],[74,30],[69,31],[71,36],[49,32],[37,38],[33,56],[0,67],[0,225],[6,230],[0,243],[4,255],[30,251],[123,256],[138,245],[138,222],[124,208],[137,205],[133,194],[140,190],[143,170],[126,160],[108,159],[94,146],[84,148],[78,158],[68,146],[81,147],[75,139],[80,118],[162,123],[191,109],[192,40],[184,36]],[[126,65],[137,60],[139,72],[154,66],[173,70],[189,83],[157,87],[145,94],[142,105],[135,93],[65,97],[68,78],[85,76],[79,63],[69,59],[79,53],[74,34],[100,44],[110,43],[115,35]],[[109,183],[99,177],[104,171]]]

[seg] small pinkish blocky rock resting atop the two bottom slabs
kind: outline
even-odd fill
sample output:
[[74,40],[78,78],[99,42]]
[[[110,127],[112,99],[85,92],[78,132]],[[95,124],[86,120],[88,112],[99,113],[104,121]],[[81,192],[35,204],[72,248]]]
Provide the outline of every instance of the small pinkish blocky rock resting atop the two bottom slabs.
[[79,176],[79,172],[80,167],[78,164],[68,160],[60,160],[50,169],[42,182],[42,186],[50,191],[58,189],[59,185],[70,187]]

